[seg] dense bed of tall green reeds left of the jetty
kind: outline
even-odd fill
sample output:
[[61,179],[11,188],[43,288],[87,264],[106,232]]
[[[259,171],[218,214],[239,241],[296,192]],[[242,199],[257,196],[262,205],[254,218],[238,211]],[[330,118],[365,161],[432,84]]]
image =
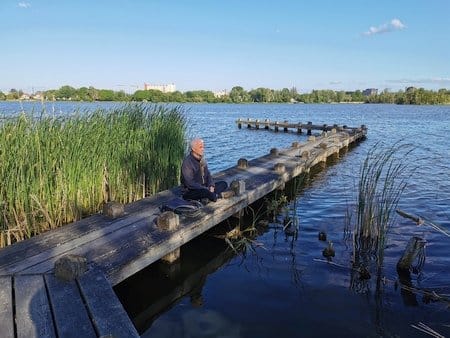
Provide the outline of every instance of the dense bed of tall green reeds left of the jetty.
[[178,183],[180,107],[127,105],[66,117],[22,114],[0,125],[1,246]]

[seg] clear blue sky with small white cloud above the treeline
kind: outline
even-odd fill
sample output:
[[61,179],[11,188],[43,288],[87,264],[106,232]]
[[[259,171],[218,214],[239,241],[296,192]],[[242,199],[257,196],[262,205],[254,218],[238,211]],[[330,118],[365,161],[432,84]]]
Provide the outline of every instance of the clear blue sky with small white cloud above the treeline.
[[450,88],[450,1],[1,0],[0,90]]

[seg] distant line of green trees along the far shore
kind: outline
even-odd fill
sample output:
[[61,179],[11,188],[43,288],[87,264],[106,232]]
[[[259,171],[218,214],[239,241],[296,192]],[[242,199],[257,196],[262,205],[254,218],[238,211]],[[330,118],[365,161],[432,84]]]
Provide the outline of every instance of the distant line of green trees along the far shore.
[[300,94],[296,88],[275,90],[270,88],[256,88],[246,91],[240,86],[233,87],[228,93],[215,94],[208,90],[193,90],[184,93],[175,91],[163,93],[159,90],[137,90],[133,94],[110,89],[96,89],[94,87],[73,88],[62,86],[56,90],[47,90],[33,95],[11,89],[8,94],[0,92],[0,100],[42,99],[42,100],[70,100],[70,101],[137,101],[137,102],[205,102],[205,103],[395,103],[395,104],[450,104],[450,90],[438,91],[424,88],[408,87],[405,90],[391,92],[387,89],[381,93],[364,95],[356,90],[334,91],[313,90],[309,94]]

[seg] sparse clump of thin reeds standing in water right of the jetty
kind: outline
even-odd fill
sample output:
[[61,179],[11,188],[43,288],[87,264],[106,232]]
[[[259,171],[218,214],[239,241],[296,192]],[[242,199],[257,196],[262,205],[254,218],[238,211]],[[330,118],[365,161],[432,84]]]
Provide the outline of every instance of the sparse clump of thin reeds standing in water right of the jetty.
[[[374,254],[383,263],[387,234],[394,221],[401,194],[406,187],[407,144],[396,142],[390,147],[375,144],[361,165],[353,229],[354,258],[358,254]],[[410,173],[408,173],[410,174]]]

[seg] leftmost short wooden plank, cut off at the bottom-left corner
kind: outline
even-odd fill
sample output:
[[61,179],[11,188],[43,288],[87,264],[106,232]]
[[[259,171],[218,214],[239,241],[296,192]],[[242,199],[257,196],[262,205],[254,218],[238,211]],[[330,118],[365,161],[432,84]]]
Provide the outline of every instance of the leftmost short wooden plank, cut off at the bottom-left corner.
[[2,337],[14,337],[12,281],[10,276],[0,276],[0,332]]

